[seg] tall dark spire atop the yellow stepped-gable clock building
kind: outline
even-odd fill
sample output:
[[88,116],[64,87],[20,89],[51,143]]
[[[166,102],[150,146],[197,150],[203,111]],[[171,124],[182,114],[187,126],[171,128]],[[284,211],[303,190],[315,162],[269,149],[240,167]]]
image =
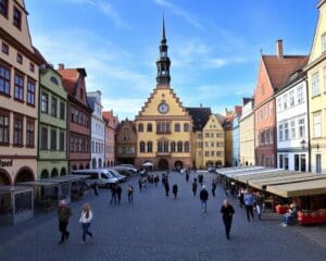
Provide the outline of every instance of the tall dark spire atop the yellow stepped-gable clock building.
[[170,80],[171,80],[170,65],[171,65],[171,61],[170,61],[170,58],[167,57],[167,45],[166,45],[166,38],[165,38],[165,22],[164,22],[164,16],[163,16],[162,39],[161,39],[161,45],[160,45],[160,58],[156,61],[158,85],[170,85]]

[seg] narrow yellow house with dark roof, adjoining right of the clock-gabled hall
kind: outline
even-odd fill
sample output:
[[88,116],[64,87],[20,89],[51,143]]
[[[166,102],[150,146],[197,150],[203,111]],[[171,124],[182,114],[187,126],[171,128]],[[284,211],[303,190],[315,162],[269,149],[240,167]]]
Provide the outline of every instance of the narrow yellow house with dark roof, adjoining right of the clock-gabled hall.
[[192,119],[192,166],[202,169],[205,166],[203,161],[204,154],[204,137],[203,128],[212,114],[211,108],[191,107],[186,108]]

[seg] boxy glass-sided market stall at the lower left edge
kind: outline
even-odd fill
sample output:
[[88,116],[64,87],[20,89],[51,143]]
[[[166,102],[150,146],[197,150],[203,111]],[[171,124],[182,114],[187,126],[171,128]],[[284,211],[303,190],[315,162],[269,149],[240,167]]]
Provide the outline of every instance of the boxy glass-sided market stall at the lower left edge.
[[34,216],[33,189],[0,186],[0,225],[15,225]]

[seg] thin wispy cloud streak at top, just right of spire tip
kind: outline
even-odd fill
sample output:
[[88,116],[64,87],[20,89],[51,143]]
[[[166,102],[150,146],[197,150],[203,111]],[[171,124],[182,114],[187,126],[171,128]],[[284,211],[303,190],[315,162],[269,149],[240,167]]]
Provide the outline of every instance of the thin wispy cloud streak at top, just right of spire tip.
[[180,7],[178,7],[176,4],[173,4],[167,0],[153,0],[153,1],[158,5],[168,9],[176,16],[179,16],[179,17],[184,18],[187,23],[189,23],[193,27],[196,27],[200,30],[205,30],[204,26],[201,25],[201,23],[197,20],[197,17],[195,15],[191,15],[190,13],[188,13],[187,11],[181,9]]

